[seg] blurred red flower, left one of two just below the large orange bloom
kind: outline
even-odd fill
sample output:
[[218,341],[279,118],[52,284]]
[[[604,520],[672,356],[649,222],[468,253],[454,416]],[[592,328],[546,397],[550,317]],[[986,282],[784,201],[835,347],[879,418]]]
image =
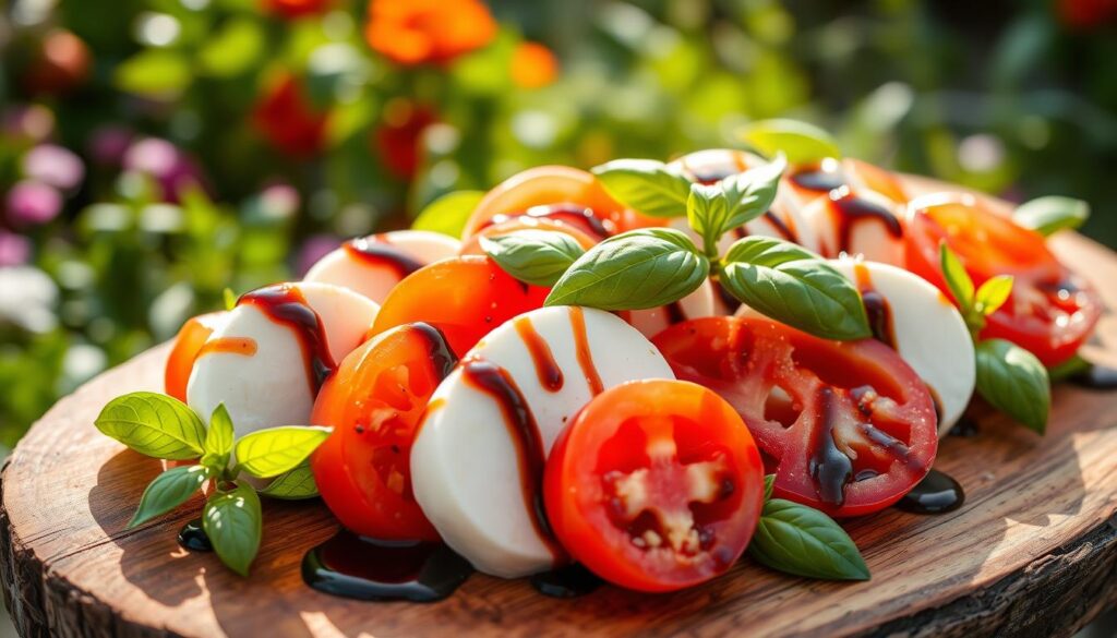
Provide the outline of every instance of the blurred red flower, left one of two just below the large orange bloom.
[[326,114],[315,109],[289,73],[266,88],[252,112],[252,123],[273,146],[292,156],[314,155],[325,142]]

